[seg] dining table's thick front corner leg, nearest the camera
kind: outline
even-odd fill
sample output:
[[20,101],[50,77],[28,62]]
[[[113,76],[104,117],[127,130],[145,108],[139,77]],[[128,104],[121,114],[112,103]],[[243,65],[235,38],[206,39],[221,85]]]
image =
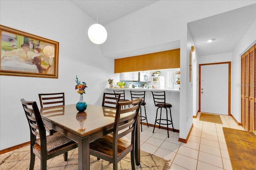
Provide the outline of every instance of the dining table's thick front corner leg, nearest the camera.
[[90,170],[89,137],[78,139],[78,170]]

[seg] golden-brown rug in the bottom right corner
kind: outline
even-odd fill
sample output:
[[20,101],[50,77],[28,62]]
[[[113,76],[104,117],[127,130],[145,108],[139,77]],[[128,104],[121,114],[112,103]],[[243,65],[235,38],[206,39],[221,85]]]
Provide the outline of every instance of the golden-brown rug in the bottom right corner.
[[256,135],[222,127],[233,170],[256,170]]

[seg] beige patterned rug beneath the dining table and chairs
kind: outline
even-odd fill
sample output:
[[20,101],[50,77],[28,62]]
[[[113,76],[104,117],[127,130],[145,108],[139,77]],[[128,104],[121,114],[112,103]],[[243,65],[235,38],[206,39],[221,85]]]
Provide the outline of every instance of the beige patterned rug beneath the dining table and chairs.
[[[30,164],[30,145],[20,149],[2,154],[0,156],[0,170],[28,170]],[[68,152],[68,161],[65,162],[63,154],[47,160],[47,170],[77,170],[78,169],[78,149]],[[105,160],[97,160],[95,156],[90,156],[91,170],[112,170],[113,166]],[[127,154],[118,162],[118,170],[130,170],[130,154]],[[136,170],[169,170],[168,161],[150,153],[140,151],[140,166]],[[40,170],[40,160],[36,156],[34,170]]]

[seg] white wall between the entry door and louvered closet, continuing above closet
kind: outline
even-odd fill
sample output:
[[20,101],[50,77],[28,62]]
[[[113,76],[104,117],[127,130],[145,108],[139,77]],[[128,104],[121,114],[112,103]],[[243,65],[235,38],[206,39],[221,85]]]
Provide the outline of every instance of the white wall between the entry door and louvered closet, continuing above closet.
[[256,21],[236,45],[232,53],[231,114],[241,122],[241,55],[256,43]]

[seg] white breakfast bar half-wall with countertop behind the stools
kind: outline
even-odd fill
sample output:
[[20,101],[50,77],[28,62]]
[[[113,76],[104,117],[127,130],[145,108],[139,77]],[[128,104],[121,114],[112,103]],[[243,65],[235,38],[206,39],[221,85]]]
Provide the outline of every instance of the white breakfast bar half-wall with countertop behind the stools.
[[[146,102],[146,114],[148,119],[148,124],[154,126],[156,119],[156,109],[154,105],[154,99],[151,91],[165,91],[166,103],[172,104],[172,121],[174,129],[178,132],[180,129],[180,90],[169,90],[169,89],[156,89],[156,88],[106,88],[105,92],[113,93],[113,90],[124,90],[125,99],[131,100],[130,91],[146,91],[145,102]],[[159,111],[158,111],[159,113]],[[142,109],[142,115],[144,115],[144,109]],[[159,116],[160,114],[158,114]],[[162,117],[166,117],[166,110],[162,109]],[[170,119],[170,115],[168,113]],[[143,124],[146,123],[146,121]],[[157,125],[157,124],[156,124]],[[162,125],[161,125],[162,126]],[[166,125],[163,125],[166,127]],[[169,126],[170,127],[170,126]]]

